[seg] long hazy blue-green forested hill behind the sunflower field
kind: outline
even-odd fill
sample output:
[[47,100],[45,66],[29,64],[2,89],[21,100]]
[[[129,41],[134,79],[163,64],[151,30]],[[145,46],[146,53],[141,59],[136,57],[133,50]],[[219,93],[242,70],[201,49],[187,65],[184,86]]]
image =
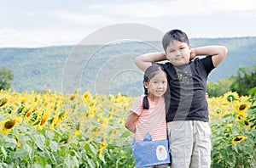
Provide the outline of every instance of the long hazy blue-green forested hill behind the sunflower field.
[[[239,67],[256,64],[256,37],[193,38],[193,48],[224,45],[229,53],[208,81],[236,76]],[[13,71],[15,91],[143,93],[143,74],[133,60],[143,53],[162,51],[160,42],[112,42],[105,45],[48,48],[0,48],[0,67]]]

